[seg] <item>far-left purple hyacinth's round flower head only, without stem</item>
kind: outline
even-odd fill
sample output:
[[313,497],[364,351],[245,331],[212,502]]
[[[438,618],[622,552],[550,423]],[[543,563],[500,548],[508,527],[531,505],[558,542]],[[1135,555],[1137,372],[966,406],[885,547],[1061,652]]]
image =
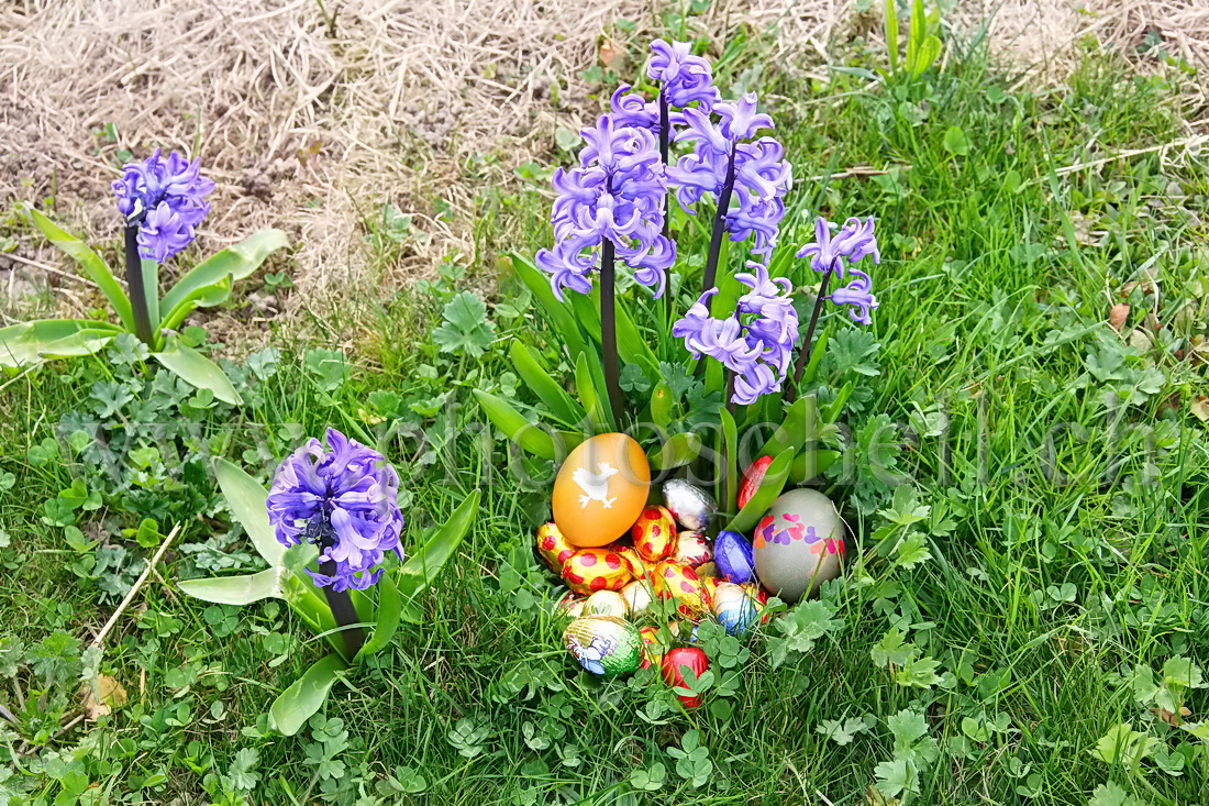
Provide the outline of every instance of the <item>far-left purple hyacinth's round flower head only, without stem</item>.
[[127,226],[138,226],[139,255],[163,263],[189,246],[196,228],[210,212],[206,196],[214,183],[201,174],[201,160],[190,162],[173,151],[160,159],[160,149],[141,162],[122,167],[114,180],[117,209]]

